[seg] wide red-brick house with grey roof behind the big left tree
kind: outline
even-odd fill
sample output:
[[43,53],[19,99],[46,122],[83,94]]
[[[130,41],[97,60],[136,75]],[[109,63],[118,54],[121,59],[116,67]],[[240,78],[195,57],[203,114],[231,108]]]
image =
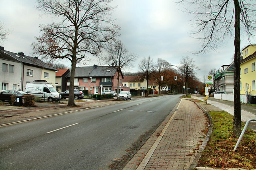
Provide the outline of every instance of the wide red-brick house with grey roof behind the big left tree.
[[[67,78],[67,89],[70,86],[69,72]],[[117,71],[112,66],[84,66],[76,67],[74,89],[88,90],[90,94],[99,94],[104,90],[117,90],[122,87],[123,81],[122,72],[120,73],[120,79],[117,80]]]

